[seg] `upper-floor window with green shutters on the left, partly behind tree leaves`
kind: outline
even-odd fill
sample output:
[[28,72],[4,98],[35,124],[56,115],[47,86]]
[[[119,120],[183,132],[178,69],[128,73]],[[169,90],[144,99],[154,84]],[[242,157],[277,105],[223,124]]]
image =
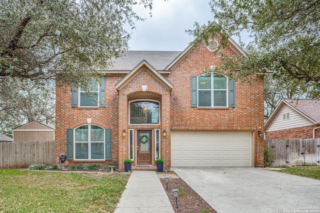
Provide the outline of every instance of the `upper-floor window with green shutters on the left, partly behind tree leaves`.
[[72,86],[71,107],[105,107],[105,77],[88,88]]

